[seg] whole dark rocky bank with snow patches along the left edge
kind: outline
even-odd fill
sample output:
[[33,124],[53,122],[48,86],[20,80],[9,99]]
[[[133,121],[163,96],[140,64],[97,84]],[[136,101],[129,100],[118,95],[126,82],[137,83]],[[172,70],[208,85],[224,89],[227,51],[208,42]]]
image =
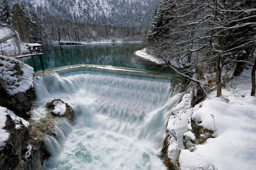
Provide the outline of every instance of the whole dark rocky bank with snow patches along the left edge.
[[27,64],[0,57],[0,106],[5,107],[0,107],[0,169],[42,169],[49,156],[45,135],[23,119],[30,118],[30,101],[35,98],[33,76]]

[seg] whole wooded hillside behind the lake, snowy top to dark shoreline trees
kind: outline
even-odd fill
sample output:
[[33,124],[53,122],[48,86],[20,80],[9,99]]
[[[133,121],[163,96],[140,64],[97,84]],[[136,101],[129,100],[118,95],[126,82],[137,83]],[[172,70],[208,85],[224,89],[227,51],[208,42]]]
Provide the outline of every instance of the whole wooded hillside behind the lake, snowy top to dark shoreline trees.
[[[1,22],[22,41],[141,40],[156,9],[152,1],[1,0]],[[17,15],[18,14],[18,15]]]

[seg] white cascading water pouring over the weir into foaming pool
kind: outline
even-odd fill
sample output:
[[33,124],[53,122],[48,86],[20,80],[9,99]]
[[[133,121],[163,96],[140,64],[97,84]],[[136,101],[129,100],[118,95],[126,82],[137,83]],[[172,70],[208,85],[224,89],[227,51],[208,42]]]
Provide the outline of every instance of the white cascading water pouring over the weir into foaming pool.
[[35,117],[42,117],[42,106],[54,98],[76,114],[62,152],[46,160],[44,169],[165,169],[159,158],[164,129],[168,111],[181,97],[170,80],[68,71],[36,77]]

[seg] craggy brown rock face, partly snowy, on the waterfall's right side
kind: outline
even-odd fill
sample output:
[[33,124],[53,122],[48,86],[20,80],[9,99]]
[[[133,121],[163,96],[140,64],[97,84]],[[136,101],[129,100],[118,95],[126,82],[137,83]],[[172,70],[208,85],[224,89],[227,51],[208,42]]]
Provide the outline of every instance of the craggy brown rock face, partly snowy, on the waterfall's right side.
[[180,103],[172,108],[172,115],[168,118],[162,150],[164,163],[168,169],[180,169],[182,151],[194,152],[196,145],[204,145],[207,139],[214,138],[214,131],[205,128],[202,120],[195,117],[194,112],[198,111],[202,104],[190,108],[190,103],[190,95],[185,94]]

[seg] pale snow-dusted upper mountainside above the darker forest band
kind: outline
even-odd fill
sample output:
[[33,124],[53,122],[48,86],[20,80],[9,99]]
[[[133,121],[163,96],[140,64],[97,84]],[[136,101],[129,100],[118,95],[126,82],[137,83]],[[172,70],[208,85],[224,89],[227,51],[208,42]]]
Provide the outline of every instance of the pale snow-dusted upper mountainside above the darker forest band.
[[34,8],[41,17],[49,13],[85,24],[134,27],[152,16],[159,0],[9,0],[15,2]]

